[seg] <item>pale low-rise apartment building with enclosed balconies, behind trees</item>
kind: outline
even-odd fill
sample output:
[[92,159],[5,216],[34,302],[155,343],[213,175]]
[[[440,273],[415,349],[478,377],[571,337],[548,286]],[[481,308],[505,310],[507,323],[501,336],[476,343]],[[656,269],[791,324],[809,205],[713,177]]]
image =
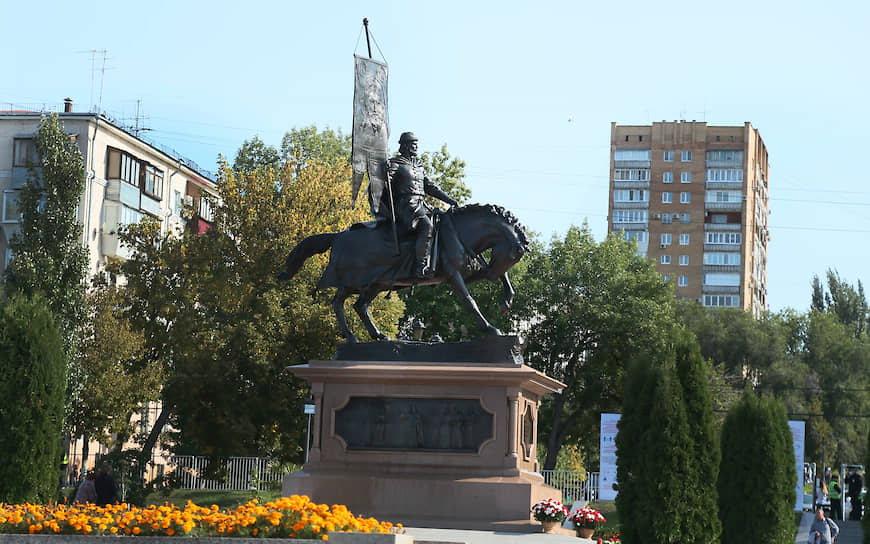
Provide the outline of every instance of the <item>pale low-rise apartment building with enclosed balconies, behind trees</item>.
[[[201,197],[215,193],[211,174],[104,115],[72,110],[67,100],[58,117],[84,159],[85,190],[78,219],[84,227],[89,276],[100,272],[110,257],[129,257],[118,229],[144,216],[159,219],[164,232],[202,232],[210,227],[211,205]],[[0,110],[0,275],[12,258],[9,241],[19,228],[18,194],[29,176],[28,165],[36,159],[34,137],[42,113]],[[193,217],[183,217],[185,203],[194,206]]]

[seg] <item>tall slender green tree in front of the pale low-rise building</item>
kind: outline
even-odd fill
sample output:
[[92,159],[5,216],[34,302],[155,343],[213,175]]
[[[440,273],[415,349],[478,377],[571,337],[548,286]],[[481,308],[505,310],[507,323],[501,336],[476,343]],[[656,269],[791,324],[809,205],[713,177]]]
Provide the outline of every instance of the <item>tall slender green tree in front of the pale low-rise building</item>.
[[57,114],[42,118],[34,144],[39,161],[18,199],[21,232],[10,242],[13,259],[6,270],[6,288],[9,294],[45,297],[63,338],[69,413],[80,401],[78,327],[85,317],[88,256],[77,212],[85,170],[82,155]]

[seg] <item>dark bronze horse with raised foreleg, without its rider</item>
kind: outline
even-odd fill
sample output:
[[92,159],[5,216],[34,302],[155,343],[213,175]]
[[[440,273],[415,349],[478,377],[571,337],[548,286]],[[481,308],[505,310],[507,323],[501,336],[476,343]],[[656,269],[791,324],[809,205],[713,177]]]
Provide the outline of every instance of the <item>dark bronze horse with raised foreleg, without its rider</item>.
[[[329,264],[318,287],[335,287],[332,308],[339,331],[347,342],[357,342],[350,332],[344,314],[344,301],[357,294],[353,304],[369,335],[375,340],[387,340],[375,326],[369,314],[369,304],[378,293],[414,285],[450,284],[462,305],[477,319],[480,328],[491,335],[501,335],[489,323],[466,287],[488,279],[501,280],[504,297],[501,310],[506,312],[513,301],[514,290],[507,271],[528,251],[525,228],[514,215],[500,206],[470,204],[436,213],[436,233],[432,264],[434,273],[425,278],[413,275],[413,237],[400,243],[396,252],[389,224],[371,228],[357,224],[329,234],[305,238],[287,256],[282,280],[292,278],[312,255],[332,249]],[[482,253],[491,250],[489,261]]]

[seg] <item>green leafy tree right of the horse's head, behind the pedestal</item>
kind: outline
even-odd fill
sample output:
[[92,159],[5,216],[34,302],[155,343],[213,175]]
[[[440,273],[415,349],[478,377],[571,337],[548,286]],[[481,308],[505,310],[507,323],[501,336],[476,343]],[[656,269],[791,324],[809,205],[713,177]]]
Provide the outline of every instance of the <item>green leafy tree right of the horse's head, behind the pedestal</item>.
[[552,469],[569,438],[597,454],[599,414],[622,403],[624,362],[665,346],[673,294],[634,244],[615,234],[598,244],[588,226],[571,227],[524,260],[515,304],[524,358],[566,384],[539,416],[544,468]]

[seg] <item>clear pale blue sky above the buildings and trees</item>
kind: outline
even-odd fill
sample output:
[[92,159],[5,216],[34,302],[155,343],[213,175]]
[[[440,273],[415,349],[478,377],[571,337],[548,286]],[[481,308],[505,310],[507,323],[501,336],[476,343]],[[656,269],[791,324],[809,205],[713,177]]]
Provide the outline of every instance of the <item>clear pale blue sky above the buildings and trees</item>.
[[390,65],[391,139],[446,143],[474,200],[545,238],[584,220],[604,236],[611,121],[750,121],[772,165],[771,309],[806,310],[828,267],[867,279],[866,2],[7,4],[0,105],[69,96],[86,110],[86,52],[106,49],[103,109],[132,118],[141,100],[147,135],[210,169],[254,135],[348,132],[368,17]]

